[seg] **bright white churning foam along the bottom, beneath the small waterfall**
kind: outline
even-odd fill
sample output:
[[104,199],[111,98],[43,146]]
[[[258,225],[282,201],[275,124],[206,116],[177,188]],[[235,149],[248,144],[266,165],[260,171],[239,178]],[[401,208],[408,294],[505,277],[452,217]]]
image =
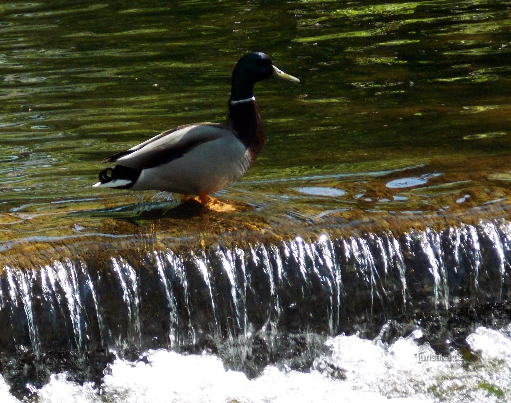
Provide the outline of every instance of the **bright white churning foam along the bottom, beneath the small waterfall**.
[[[214,355],[147,351],[144,360],[117,359],[107,369],[101,395],[91,383],[80,386],[65,374],[52,375],[37,393],[38,403],[355,403],[511,401],[511,326],[477,328],[467,343],[480,359],[459,353],[438,355],[415,340],[387,345],[358,336],[327,341],[330,352],[309,373],[268,366],[249,380],[225,370]],[[339,376],[341,375],[341,376]],[[344,379],[343,379],[344,377]],[[20,403],[0,377],[0,401]]]

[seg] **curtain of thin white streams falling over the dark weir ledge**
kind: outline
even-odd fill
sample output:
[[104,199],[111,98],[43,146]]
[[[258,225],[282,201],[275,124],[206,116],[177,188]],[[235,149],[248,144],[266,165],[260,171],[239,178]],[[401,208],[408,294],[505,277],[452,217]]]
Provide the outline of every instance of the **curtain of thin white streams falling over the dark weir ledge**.
[[[87,262],[94,262],[90,259]],[[4,267],[4,351],[178,347],[204,338],[337,335],[417,312],[508,298],[511,223],[435,232],[297,236],[280,245],[154,250],[108,268],[82,258]]]

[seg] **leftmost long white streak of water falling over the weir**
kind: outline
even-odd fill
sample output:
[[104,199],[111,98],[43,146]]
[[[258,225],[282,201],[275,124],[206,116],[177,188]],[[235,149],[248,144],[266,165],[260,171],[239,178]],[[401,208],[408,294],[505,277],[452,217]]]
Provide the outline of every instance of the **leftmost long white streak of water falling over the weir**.
[[[34,316],[34,302],[32,298],[32,275],[33,271],[21,271],[17,269],[13,269],[10,267],[6,267],[4,269],[7,271],[7,278],[10,285],[10,296],[11,300],[14,302],[14,306],[18,305],[18,296],[21,300],[21,304],[23,305],[23,309],[25,311],[25,315],[27,317],[27,324],[29,330],[30,342],[32,344],[32,349],[35,352],[41,351],[41,341],[39,339],[39,332],[37,330],[35,316]],[[14,312],[12,312],[14,315]]]

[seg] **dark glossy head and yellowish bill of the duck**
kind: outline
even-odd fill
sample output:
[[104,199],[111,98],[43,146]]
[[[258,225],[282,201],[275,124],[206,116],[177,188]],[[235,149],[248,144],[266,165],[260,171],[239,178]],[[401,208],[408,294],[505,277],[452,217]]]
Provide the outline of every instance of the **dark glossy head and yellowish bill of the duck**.
[[230,101],[252,98],[254,84],[271,77],[294,83],[300,82],[296,77],[275,67],[268,55],[262,52],[247,53],[234,67]]

